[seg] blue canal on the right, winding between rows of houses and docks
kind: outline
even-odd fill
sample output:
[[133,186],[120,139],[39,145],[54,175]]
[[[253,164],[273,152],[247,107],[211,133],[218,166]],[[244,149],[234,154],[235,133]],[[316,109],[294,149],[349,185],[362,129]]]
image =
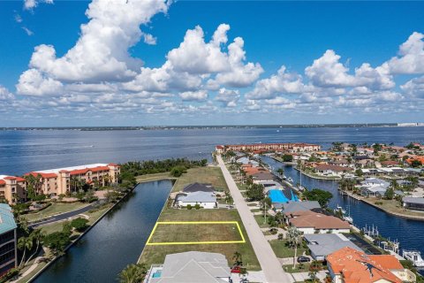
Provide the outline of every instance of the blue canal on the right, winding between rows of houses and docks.
[[[271,157],[261,157],[262,161],[269,164],[274,170],[283,167],[284,164],[277,162]],[[300,172],[292,166],[284,166],[284,175],[292,178],[293,183],[300,181]],[[346,195],[338,193],[337,181],[316,180],[302,175],[302,186],[307,189],[321,188],[333,194],[333,198],[329,202],[329,207],[335,209],[337,205],[342,206],[347,211],[350,207],[353,224],[359,228],[366,225],[378,227],[378,231],[385,238],[390,240],[398,240],[400,249],[420,250],[424,255],[424,221],[410,220],[391,216],[377,210],[367,203],[354,200]]]

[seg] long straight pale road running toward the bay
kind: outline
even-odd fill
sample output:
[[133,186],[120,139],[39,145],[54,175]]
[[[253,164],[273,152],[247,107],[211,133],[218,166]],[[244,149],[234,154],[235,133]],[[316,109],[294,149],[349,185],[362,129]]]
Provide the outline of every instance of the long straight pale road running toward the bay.
[[265,278],[269,283],[294,282],[292,276],[284,272],[281,267],[280,262],[276,258],[276,254],[271,249],[271,246],[269,246],[269,242],[265,239],[265,236],[261,232],[261,228],[254,219],[252,212],[249,210],[243,195],[241,195],[239,187],[237,187],[230,172],[228,172],[225,164],[223,164],[223,158],[221,158],[221,156],[217,156],[216,158],[223,171],[223,177],[230,188],[236,208],[239,210],[240,218],[246,228],[250,242],[254,247],[254,253],[261,264],[261,269],[265,274]]

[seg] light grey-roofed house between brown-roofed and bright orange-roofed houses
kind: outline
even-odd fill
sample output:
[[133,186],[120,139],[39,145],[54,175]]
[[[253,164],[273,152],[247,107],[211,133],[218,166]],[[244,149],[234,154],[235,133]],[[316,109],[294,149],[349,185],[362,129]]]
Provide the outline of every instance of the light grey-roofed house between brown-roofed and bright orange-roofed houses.
[[319,261],[325,260],[325,256],[345,247],[363,251],[341,233],[309,233],[304,236],[304,239],[307,241],[311,256]]

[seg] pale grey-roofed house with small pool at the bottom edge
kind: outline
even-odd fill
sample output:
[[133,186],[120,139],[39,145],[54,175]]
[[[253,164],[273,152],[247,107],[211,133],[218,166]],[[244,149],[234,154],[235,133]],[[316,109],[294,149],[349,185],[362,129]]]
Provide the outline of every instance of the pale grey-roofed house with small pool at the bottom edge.
[[225,283],[231,271],[225,256],[218,253],[188,251],[165,256],[163,265],[152,265],[145,283]]

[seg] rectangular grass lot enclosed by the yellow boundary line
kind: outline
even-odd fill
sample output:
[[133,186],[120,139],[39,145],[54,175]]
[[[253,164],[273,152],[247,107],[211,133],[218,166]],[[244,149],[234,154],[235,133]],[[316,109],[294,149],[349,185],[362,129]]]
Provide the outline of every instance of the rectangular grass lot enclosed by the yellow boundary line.
[[242,241],[233,223],[158,224],[150,243]]

